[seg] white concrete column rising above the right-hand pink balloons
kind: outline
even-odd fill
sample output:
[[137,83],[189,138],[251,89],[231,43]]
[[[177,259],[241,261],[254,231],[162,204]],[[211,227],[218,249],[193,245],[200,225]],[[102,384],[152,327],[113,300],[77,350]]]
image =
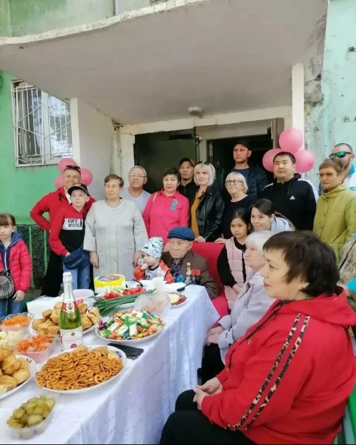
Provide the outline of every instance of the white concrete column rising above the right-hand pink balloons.
[[304,65],[302,63],[297,63],[292,68],[292,126],[303,134],[304,141]]

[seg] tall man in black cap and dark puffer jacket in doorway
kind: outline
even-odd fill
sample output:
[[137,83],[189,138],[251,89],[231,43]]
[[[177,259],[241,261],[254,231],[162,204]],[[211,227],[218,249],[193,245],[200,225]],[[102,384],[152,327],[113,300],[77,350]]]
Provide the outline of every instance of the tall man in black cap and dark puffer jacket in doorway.
[[[233,160],[235,161],[235,166],[228,173],[241,173],[247,182],[247,194],[254,194],[256,198],[260,198],[260,194],[263,188],[268,184],[268,180],[265,171],[260,166],[254,162],[248,161],[251,154],[252,151],[250,150],[248,142],[241,141],[236,144],[233,148]],[[226,176],[227,174],[222,175],[222,183],[220,184],[223,190],[225,190]],[[227,197],[228,200],[231,199],[228,196],[228,193],[224,192],[223,194],[224,198]]]

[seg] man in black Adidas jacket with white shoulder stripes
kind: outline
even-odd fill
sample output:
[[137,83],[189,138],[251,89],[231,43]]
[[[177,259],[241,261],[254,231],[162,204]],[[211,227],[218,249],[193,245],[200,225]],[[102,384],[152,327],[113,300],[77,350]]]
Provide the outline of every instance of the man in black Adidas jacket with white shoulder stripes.
[[288,218],[296,230],[313,230],[318,192],[295,172],[295,157],[281,151],[274,159],[275,180],[264,187],[261,198],[273,202],[276,212]]

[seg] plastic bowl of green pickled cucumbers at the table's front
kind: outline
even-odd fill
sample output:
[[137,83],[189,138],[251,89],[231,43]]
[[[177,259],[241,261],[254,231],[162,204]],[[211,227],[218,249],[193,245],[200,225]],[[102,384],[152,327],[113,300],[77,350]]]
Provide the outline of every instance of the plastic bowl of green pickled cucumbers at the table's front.
[[55,399],[41,395],[33,397],[16,408],[7,420],[10,433],[15,439],[31,439],[47,428]]

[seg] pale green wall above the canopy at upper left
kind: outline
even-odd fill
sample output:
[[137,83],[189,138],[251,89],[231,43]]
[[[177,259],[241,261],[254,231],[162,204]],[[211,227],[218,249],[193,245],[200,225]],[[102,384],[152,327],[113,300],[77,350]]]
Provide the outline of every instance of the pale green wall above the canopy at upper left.
[[[9,23],[2,27],[3,11]],[[114,0],[0,0],[0,36],[39,34],[103,20],[113,14]]]

